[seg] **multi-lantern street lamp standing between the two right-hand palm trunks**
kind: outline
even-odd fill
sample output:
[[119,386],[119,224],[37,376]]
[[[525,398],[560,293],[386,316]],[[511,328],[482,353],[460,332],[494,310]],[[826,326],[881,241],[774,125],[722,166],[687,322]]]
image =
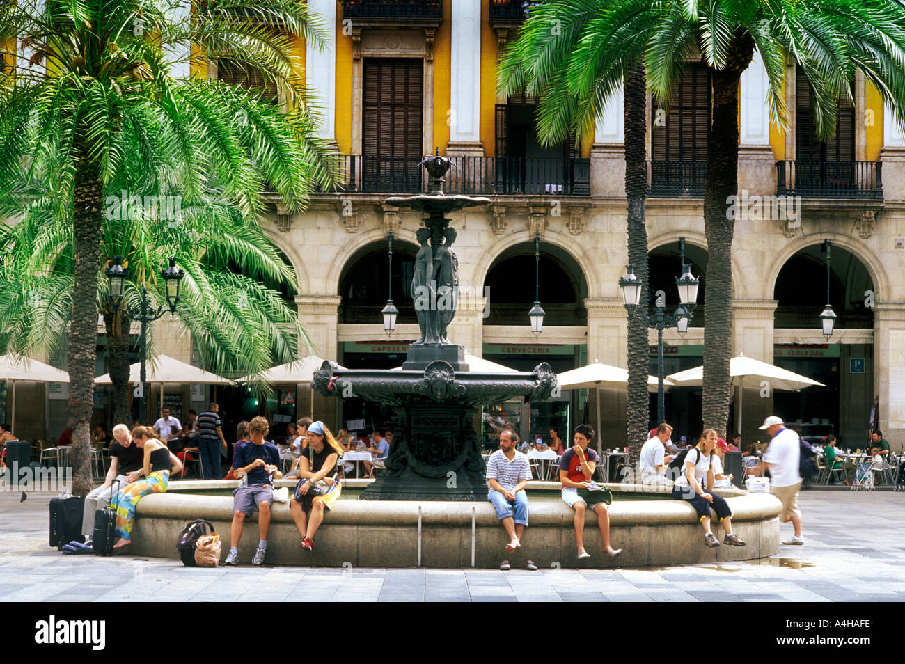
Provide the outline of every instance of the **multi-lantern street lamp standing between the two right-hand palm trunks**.
[[680,336],[684,337],[688,332],[691,315],[698,303],[700,280],[691,274],[691,264],[685,262],[685,238],[679,238],[679,251],[682,273],[676,280],[676,287],[679,289],[681,303],[672,315],[667,314],[666,308],[662,306],[655,307],[650,316],[638,312],[637,307],[641,303],[643,284],[635,275],[632,265],[626,267],[625,276],[619,280],[619,289],[622,291],[624,306],[628,310],[629,316],[640,318],[644,321],[644,325],[657,330],[657,422],[666,420],[666,396],[663,392],[663,330],[675,327]]

